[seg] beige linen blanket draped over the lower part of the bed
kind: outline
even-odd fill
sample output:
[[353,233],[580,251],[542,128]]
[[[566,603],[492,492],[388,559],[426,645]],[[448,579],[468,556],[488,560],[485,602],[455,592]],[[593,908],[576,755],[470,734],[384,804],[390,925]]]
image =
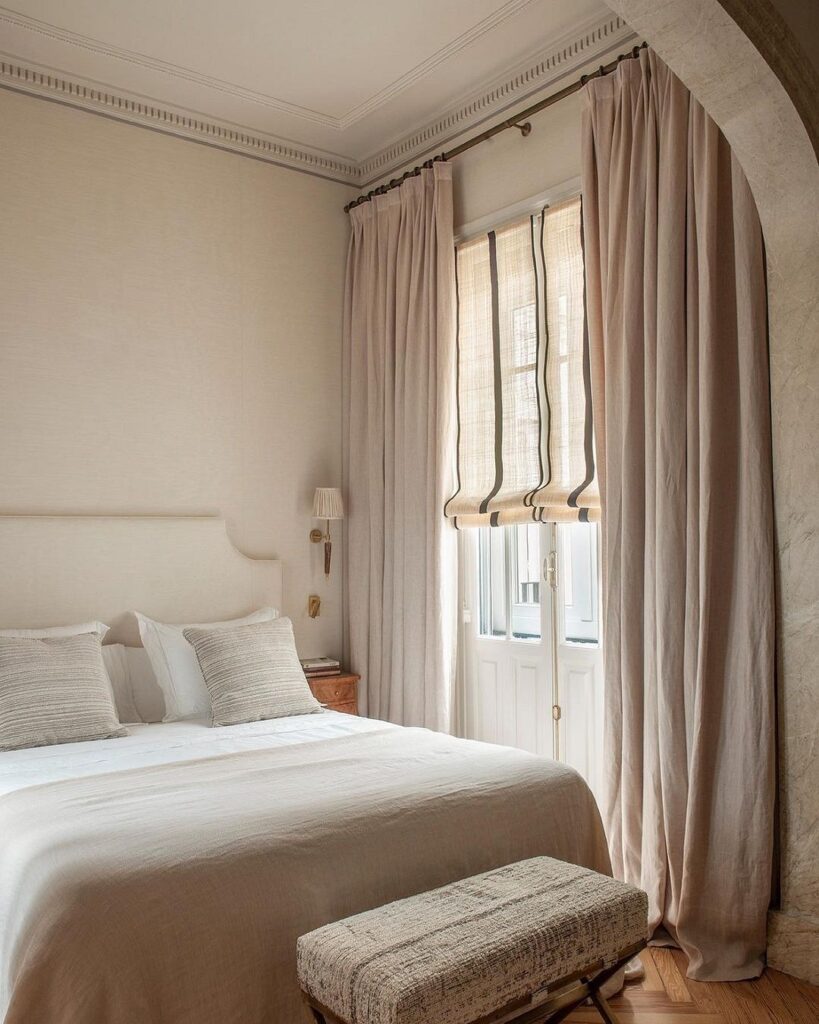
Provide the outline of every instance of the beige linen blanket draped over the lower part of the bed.
[[0,799],[0,1019],[302,1024],[299,935],[537,854],[608,872],[583,780],[419,729],[32,786]]

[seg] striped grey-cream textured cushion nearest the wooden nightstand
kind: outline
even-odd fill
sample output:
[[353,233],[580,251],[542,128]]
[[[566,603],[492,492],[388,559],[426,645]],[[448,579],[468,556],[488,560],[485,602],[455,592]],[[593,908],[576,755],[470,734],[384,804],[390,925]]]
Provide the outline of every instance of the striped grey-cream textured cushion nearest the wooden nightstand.
[[234,629],[184,632],[197,652],[211,695],[214,725],[309,715],[321,710],[299,664],[289,618]]

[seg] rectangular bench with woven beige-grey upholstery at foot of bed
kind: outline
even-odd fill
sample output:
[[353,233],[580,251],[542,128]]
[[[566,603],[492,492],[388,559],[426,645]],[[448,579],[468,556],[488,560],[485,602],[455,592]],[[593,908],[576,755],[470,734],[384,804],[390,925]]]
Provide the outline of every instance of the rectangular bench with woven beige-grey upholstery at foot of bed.
[[298,941],[319,1024],[541,1024],[646,944],[640,889],[535,857],[326,925]]

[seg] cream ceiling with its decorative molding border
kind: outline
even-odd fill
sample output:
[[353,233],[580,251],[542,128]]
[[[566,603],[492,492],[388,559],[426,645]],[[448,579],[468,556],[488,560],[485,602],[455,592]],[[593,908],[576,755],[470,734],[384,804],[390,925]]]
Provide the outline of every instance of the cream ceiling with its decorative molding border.
[[603,0],[16,0],[0,84],[363,184],[629,37]]

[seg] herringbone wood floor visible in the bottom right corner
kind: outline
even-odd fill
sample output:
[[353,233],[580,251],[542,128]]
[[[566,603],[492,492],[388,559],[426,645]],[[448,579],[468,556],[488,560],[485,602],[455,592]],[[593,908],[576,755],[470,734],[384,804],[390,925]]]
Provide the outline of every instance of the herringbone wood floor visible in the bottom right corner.
[[[706,985],[685,976],[678,949],[642,954],[646,976],[610,1000],[621,1024],[819,1024],[819,988],[778,971],[757,981]],[[601,1024],[592,1007],[575,1010],[566,1024]]]

